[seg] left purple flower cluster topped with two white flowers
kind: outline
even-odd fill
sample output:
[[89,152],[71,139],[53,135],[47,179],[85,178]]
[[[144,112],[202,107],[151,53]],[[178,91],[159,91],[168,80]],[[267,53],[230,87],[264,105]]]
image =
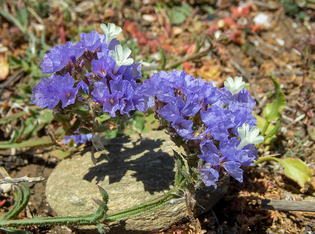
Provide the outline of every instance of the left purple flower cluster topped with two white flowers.
[[73,103],[86,106],[84,102],[92,100],[95,103],[87,106],[102,105],[103,111],[112,117],[116,114],[130,117],[132,110],[146,111],[145,99],[139,93],[141,84],[136,83],[141,78],[141,64],[129,57],[128,48],[123,50],[119,41],[113,39],[121,32],[119,27],[113,24],[101,27],[105,34],[81,33],[80,42],[55,46],[44,55],[42,73],[56,74],[42,78],[33,87],[33,104],[53,109],[60,100],[61,108]]

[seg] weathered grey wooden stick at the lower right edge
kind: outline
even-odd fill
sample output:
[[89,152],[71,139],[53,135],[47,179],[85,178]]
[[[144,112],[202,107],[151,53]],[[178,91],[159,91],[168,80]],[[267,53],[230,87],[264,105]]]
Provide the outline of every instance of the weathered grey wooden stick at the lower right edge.
[[263,199],[261,200],[261,208],[267,210],[315,212],[315,202]]

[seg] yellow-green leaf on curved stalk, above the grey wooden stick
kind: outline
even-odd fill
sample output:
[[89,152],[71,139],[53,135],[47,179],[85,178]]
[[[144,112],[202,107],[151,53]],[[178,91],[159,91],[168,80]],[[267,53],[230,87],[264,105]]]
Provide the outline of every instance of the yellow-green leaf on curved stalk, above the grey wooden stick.
[[267,160],[279,162],[284,169],[284,174],[295,181],[300,187],[304,187],[306,181],[311,181],[311,177],[313,176],[312,170],[301,159],[266,157],[255,161],[255,165]]

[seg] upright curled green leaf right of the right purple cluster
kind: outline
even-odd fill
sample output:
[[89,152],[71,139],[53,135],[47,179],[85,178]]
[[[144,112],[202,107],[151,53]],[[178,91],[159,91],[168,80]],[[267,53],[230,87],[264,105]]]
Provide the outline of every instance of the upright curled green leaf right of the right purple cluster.
[[280,84],[278,83],[276,76],[272,74],[271,71],[268,71],[268,74],[270,75],[270,79],[272,80],[275,86],[275,94],[273,97],[273,102],[268,103],[266,105],[264,114],[265,114],[266,120],[268,122],[272,122],[280,118],[280,111],[284,109],[286,105],[286,101],[285,101],[284,94],[281,91]]

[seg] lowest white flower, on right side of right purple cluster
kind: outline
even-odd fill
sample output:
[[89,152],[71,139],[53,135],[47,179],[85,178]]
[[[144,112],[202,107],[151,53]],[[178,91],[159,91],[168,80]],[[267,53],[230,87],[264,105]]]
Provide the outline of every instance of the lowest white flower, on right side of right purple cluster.
[[258,136],[259,128],[257,128],[257,126],[252,127],[252,129],[249,131],[249,124],[243,124],[242,127],[238,127],[237,132],[241,137],[241,142],[236,148],[237,150],[243,149],[246,145],[258,144],[264,141],[263,136]]

